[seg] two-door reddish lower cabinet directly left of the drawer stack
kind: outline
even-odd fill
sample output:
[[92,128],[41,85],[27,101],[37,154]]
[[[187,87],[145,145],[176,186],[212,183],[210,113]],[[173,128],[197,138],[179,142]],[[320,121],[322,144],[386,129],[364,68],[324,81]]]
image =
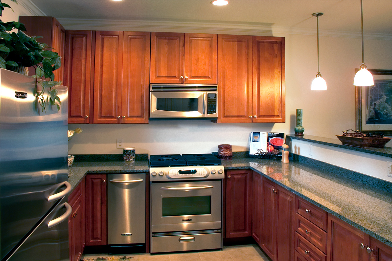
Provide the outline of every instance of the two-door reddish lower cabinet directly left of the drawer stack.
[[273,261],[294,259],[294,194],[261,179],[261,244]]

